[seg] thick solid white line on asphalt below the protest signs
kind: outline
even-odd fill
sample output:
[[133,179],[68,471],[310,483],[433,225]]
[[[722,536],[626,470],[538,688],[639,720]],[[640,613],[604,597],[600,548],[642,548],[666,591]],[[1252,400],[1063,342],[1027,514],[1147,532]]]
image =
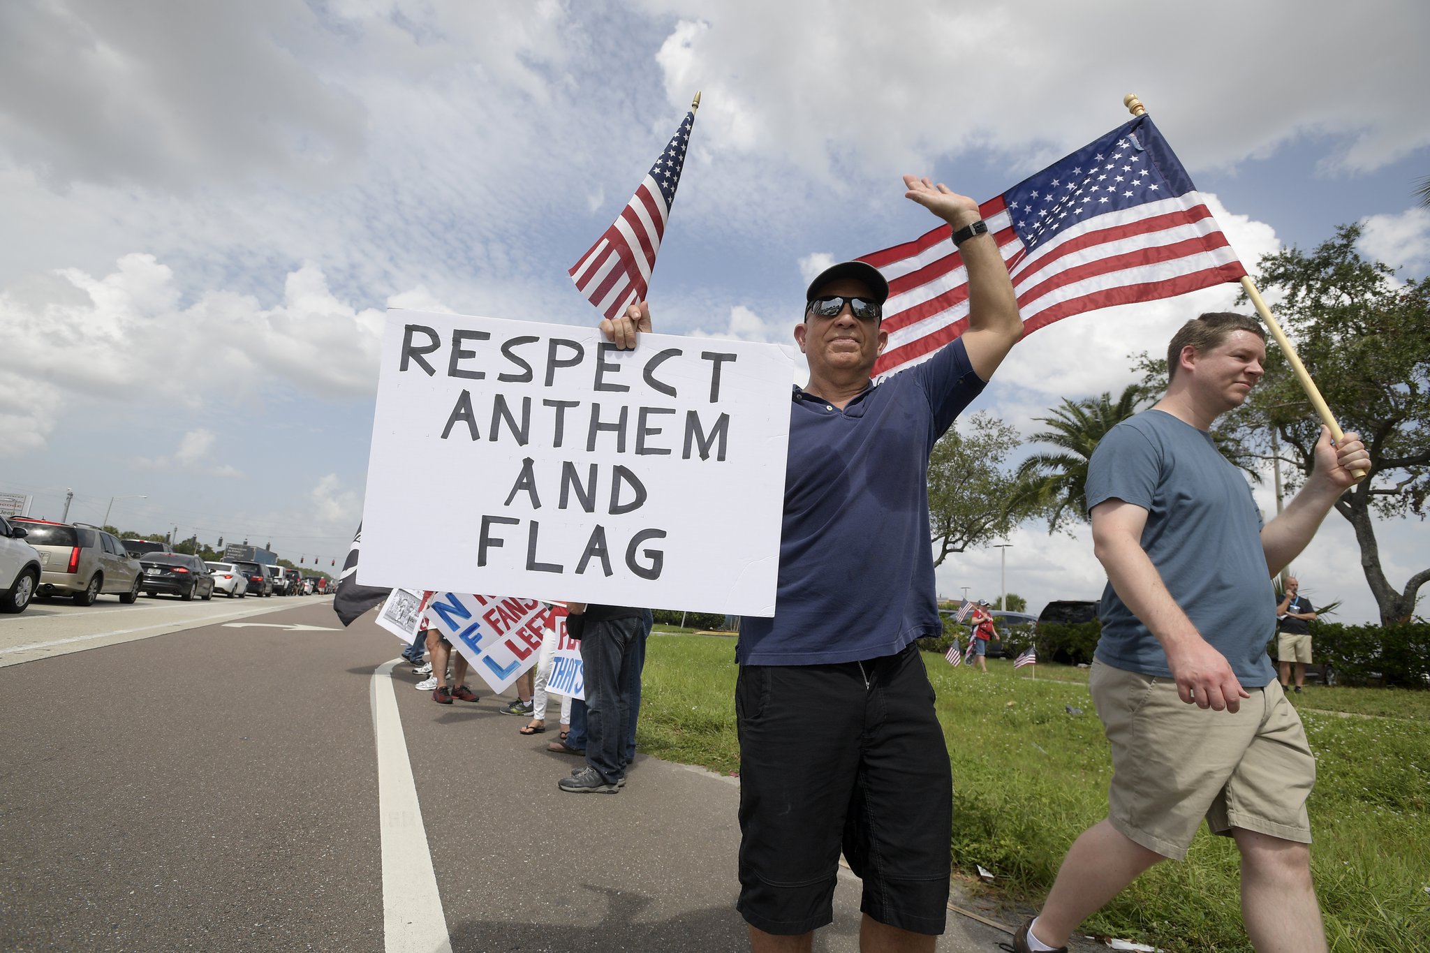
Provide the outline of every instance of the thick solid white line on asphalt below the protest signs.
[[392,670],[383,662],[372,673],[372,730],[378,742],[378,817],[382,830],[382,920],[386,953],[452,953],[446,913],[432,869],[422,804],[412,780],[408,739],[398,714]]

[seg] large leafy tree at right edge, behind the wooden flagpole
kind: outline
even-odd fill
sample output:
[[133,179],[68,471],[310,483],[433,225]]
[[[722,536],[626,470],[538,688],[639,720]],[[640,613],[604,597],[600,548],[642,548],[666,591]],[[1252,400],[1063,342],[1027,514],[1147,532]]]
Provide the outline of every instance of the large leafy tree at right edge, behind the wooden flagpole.
[[[1336,503],[1356,532],[1360,564],[1383,624],[1409,620],[1430,567],[1401,587],[1386,576],[1377,519],[1424,519],[1430,493],[1430,281],[1397,280],[1394,270],[1356,251],[1360,227],[1340,226],[1311,251],[1287,249],[1260,261],[1261,289],[1276,296],[1278,320],[1344,430],[1360,433],[1370,473]],[[1244,446],[1290,464],[1290,489],[1311,471],[1320,420],[1273,343],[1267,373],[1223,427]],[[1424,554],[1423,554],[1424,556]]]

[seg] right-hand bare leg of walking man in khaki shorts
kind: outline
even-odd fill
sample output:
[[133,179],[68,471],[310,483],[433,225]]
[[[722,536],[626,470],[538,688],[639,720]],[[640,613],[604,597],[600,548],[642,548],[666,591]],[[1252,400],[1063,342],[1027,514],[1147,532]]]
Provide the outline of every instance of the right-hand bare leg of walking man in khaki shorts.
[[1241,852],[1241,919],[1251,946],[1258,953],[1323,953],[1310,844],[1241,827],[1231,834]]

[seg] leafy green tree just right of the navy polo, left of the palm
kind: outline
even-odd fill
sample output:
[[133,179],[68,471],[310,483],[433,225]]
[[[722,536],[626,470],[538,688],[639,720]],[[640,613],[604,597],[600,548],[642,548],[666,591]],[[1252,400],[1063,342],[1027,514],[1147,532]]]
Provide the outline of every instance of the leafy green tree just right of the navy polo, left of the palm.
[[934,444],[928,463],[934,566],[942,564],[950,553],[1005,537],[1032,516],[1030,506],[1012,500],[1015,482],[1005,466],[1020,443],[1011,426],[975,413]]

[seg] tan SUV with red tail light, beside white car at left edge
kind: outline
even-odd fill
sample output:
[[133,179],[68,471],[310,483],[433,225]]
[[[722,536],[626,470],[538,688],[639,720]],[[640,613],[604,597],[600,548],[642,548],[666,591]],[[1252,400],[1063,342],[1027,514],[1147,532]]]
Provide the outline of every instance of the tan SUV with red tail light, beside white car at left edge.
[[94,526],[54,523],[17,516],[11,526],[26,530],[26,542],[40,550],[40,587],[36,594],[73,596],[79,606],[93,606],[100,594],[114,593],[122,603],[139,599],[139,560],[117,537]]

